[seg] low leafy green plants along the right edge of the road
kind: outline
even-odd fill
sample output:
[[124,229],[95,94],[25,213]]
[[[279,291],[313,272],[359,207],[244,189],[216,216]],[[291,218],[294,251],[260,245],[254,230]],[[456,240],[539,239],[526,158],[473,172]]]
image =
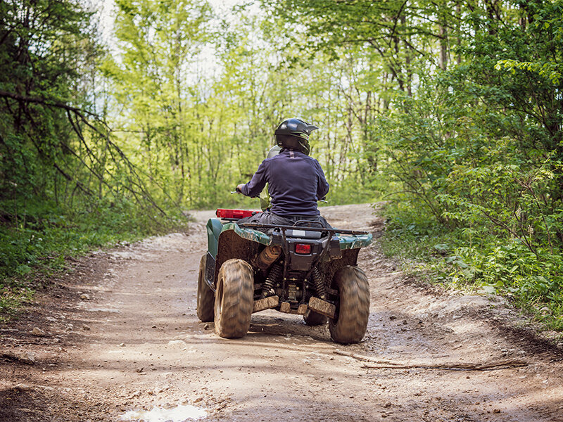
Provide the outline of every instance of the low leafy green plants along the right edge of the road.
[[386,218],[381,248],[405,273],[466,293],[500,295],[552,338],[563,338],[560,251],[534,254],[513,238],[448,228],[409,203],[390,203],[378,212]]

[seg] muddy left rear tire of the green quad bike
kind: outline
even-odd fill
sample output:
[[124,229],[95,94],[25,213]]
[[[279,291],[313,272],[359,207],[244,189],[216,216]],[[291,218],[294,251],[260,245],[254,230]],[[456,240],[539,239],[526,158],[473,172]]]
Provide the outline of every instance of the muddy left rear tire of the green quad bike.
[[239,338],[248,333],[254,306],[254,276],[243,260],[223,262],[215,292],[215,333]]

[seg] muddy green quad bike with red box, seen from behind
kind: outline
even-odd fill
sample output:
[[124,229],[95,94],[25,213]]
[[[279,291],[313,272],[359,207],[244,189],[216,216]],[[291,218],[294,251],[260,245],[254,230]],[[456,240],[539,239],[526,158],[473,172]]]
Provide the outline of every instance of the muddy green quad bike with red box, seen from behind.
[[209,219],[208,252],[199,267],[198,318],[215,321],[215,332],[223,338],[240,338],[253,313],[276,309],[303,315],[312,326],[328,321],[337,343],[362,340],[369,285],[356,263],[372,234],[309,221],[293,226],[236,223],[255,212],[220,209],[219,218]]

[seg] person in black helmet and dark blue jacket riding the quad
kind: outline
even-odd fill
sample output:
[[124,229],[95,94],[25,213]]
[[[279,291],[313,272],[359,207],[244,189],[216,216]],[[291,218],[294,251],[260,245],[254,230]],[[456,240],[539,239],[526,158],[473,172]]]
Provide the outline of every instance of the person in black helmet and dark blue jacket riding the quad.
[[258,212],[239,222],[293,225],[298,220],[320,222],[330,227],[317,209],[317,200],[329,192],[329,184],[315,158],[309,157],[309,135],[318,127],[300,119],[279,124],[274,135],[281,150],[258,166],[251,181],[239,184],[236,191],[244,196],[258,196],[268,184],[270,210]]

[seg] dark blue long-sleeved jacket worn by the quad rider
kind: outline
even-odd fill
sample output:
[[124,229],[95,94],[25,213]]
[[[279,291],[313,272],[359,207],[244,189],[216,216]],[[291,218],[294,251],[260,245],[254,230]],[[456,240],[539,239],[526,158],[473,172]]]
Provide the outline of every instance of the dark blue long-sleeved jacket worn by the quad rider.
[[262,161],[241,191],[246,196],[258,196],[266,183],[272,203],[270,211],[277,215],[319,215],[317,200],[329,192],[319,162],[285,148]]

